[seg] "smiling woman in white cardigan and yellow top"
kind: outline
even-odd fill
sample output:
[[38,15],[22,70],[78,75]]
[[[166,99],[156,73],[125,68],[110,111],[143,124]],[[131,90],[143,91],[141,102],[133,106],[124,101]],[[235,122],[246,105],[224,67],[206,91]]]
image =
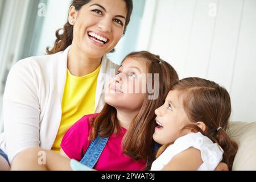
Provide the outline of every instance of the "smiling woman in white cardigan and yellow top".
[[12,163],[29,147],[58,152],[73,123],[101,111],[103,76],[118,68],[106,53],[125,34],[132,10],[132,0],[73,0],[64,33],[56,32],[48,55],[14,65],[3,97],[0,166],[5,153]]

